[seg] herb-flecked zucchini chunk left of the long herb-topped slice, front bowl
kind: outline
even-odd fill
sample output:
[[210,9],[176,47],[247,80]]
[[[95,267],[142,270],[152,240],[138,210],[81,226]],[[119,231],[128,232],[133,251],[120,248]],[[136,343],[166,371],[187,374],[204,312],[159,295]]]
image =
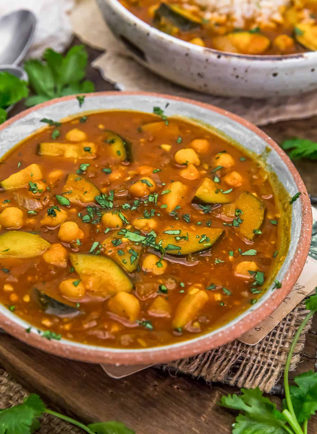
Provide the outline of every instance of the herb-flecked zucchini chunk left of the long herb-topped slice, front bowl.
[[113,259],[128,273],[133,273],[139,264],[142,247],[129,240],[115,246],[112,241],[115,242],[115,240],[124,237],[122,233],[118,235],[118,232],[121,232],[121,229],[111,232],[111,236],[105,239],[102,243],[102,247],[104,248],[102,253]]

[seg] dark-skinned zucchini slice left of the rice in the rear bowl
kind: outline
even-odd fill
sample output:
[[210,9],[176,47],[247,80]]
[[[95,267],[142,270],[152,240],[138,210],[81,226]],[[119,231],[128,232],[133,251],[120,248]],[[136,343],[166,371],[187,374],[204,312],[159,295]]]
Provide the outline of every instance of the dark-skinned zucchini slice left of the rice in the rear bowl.
[[178,27],[182,32],[198,29],[201,20],[177,4],[161,3],[154,15],[154,25],[159,25],[162,18]]

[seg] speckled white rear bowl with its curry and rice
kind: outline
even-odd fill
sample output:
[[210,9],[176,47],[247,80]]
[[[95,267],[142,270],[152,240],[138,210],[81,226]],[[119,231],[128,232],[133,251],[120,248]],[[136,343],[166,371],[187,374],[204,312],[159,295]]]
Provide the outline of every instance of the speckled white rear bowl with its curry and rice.
[[142,65],[203,93],[269,98],[317,89],[316,2],[97,0]]

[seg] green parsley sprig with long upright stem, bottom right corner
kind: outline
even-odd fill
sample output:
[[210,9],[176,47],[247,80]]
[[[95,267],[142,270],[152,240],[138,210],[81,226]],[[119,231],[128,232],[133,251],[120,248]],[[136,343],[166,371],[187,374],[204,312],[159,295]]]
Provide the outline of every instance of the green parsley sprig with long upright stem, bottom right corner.
[[298,338],[317,312],[317,294],[307,299],[305,304],[310,312],[294,335],[285,364],[283,411],[278,411],[276,405],[264,397],[259,388],[241,389],[241,395],[222,396],[222,407],[243,412],[235,419],[234,434],[307,434],[308,421],[317,411],[317,373],[304,372],[294,378],[295,386],[288,383],[288,372]]

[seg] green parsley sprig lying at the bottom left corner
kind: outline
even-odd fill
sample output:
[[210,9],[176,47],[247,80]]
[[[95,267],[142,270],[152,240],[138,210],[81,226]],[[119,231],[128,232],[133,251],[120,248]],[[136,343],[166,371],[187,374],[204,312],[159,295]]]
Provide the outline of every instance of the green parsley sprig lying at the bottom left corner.
[[32,434],[40,428],[41,424],[38,418],[43,413],[52,414],[70,422],[88,434],[135,434],[135,431],[116,421],[82,424],[75,419],[64,416],[64,414],[49,410],[41,398],[35,394],[27,396],[22,404],[0,410],[0,432],[3,434]]

